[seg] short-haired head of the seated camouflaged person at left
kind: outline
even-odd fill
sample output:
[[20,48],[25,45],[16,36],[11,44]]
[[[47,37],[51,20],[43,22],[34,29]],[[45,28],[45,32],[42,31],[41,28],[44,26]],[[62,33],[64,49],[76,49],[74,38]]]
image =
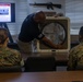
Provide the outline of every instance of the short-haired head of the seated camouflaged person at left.
[[8,38],[8,31],[4,27],[0,27],[0,44],[4,44]]

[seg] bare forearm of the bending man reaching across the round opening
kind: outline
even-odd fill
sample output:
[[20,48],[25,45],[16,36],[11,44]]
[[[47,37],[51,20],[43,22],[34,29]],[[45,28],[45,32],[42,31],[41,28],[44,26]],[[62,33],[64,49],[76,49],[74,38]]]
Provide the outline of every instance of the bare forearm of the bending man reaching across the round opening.
[[42,39],[42,42],[44,42],[45,44],[47,44],[49,47],[54,48],[54,49],[61,49],[63,48],[61,45],[56,45],[54,44],[50,39],[48,39],[46,36],[44,36]]

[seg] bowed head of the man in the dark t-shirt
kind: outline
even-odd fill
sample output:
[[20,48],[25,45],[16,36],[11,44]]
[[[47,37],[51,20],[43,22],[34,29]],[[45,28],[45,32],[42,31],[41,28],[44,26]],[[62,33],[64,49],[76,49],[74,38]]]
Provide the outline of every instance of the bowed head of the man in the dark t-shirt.
[[35,13],[34,20],[35,20],[35,22],[42,24],[42,23],[45,22],[46,15],[43,11],[38,11],[38,12]]

